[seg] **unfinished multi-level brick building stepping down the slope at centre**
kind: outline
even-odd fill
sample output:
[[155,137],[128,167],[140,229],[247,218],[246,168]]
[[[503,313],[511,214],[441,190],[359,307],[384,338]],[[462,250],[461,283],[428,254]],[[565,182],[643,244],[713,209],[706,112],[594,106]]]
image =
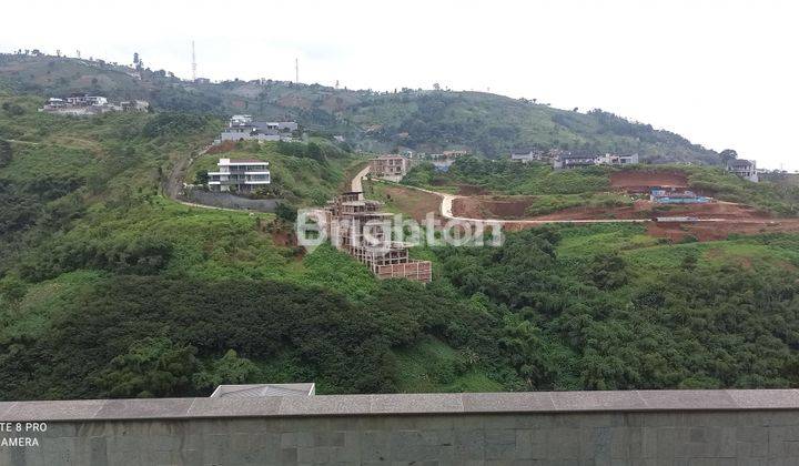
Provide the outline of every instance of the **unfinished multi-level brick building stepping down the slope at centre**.
[[346,192],[327,203],[325,209],[328,237],[341,251],[366,264],[378,278],[407,278],[428,283],[429,261],[408,256],[405,243],[392,240],[390,213],[380,212],[382,204],[364,200],[361,192]]

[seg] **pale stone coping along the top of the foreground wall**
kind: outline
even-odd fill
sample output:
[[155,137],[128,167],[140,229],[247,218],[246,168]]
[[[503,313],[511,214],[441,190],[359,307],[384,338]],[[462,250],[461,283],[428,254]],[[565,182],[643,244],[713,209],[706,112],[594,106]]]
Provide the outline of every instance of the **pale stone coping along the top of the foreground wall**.
[[2,402],[0,419],[799,409],[799,389],[518,392]]

